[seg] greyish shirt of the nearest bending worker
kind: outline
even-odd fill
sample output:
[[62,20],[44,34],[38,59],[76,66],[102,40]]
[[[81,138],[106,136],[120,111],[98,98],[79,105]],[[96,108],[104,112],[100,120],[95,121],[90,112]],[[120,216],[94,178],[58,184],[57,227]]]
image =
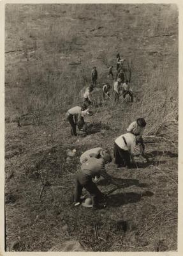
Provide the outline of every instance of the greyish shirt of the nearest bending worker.
[[84,175],[94,178],[97,175],[101,175],[105,179],[111,180],[112,177],[106,173],[105,162],[103,158],[91,157],[81,166],[81,171]]

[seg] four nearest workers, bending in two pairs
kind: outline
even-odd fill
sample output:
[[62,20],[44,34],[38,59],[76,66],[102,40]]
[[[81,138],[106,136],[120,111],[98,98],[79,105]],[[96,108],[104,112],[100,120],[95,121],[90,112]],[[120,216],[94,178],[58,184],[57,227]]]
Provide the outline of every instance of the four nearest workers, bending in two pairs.
[[[131,168],[134,163],[136,145],[140,145],[140,154],[144,157],[145,146],[142,134],[145,125],[146,122],[143,118],[132,122],[127,128],[127,132],[114,141],[113,153],[109,149],[104,150],[98,147],[91,148],[80,156],[80,168],[76,173],[75,206],[82,204],[84,207],[98,209],[103,202],[106,204],[106,195],[101,193],[92,179],[97,180],[101,176],[115,186],[119,186],[119,182],[106,172],[105,164],[111,163],[113,160],[113,163],[117,164],[117,168]],[[87,198],[84,202],[82,202],[84,200],[83,188],[91,196],[90,200]]]

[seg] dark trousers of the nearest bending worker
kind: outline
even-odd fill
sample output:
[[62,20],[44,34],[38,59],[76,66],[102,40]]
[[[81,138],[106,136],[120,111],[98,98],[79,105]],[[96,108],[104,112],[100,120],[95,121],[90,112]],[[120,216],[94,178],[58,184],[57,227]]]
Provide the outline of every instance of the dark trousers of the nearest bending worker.
[[99,200],[102,200],[104,197],[96,184],[92,182],[92,177],[87,177],[84,173],[78,171],[76,176],[75,202],[80,202],[83,188],[91,195],[93,205],[97,205]]

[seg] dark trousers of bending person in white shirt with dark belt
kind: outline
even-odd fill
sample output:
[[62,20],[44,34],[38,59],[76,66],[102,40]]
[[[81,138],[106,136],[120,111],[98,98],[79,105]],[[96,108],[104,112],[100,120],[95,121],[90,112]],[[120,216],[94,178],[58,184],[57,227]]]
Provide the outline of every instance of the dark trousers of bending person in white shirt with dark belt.
[[116,143],[113,145],[113,156],[114,156],[114,163],[123,165],[123,166],[130,166],[130,154],[128,150],[123,150],[120,148]]

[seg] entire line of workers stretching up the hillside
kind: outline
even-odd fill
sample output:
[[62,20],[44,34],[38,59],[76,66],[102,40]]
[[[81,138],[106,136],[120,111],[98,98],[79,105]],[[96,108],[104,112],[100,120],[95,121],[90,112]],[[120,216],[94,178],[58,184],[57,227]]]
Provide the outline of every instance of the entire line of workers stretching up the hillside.
[[[133,94],[129,88],[129,81],[126,79],[126,76],[122,70],[122,63],[124,60],[121,59],[120,55],[117,54],[117,75],[116,81],[113,83],[114,89],[114,101],[117,102],[119,100],[119,91],[122,84],[122,96],[125,98],[126,95],[129,95],[131,98],[131,102],[133,102]],[[113,79],[113,66],[108,68],[108,78],[112,76]],[[93,115],[90,110],[90,106],[92,104],[92,91],[96,86],[98,79],[98,72],[96,67],[92,69],[92,84],[85,90],[84,93],[84,102],[82,106],[75,106],[71,108],[66,113],[66,117],[68,122],[71,125],[71,134],[73,136],[77,136],[77,127],[80,131],[86,131],[87,127],[84,122],[84,116]],[[110,98],[110,84],[103,84],[103,99],[105,97]],[[145,157],[145,146],[143,144],[142,134],[145,129],[146,122],[143,118],[138,118],[135,122],[132,122],[127,128],[127,132],[122,134],[114,141],[113,150],[103,149],[103,148],[91,148],[84,152],[82,156],[80,156],[80,168],[76,173],[76,188],[74,195],[74,204],[80,205],[82,204],[84,207],[92,207],[97,209],[100,202],[104,202],[106,200],[106,195],[99,191],[96,186],[95,181],[101,176],[105,179],[108,179],[112,184],[119,186],[118,182],[115,178],[108,175],[105,170],[105,164],[115,163],[117,168],[126,167],[131,168],[134,163],[135,156],[135,147],[136,145],[140,145],[140,156]],[[84,201],[82,196],[82,189],[85,188],[91,198],[87,198]]]

